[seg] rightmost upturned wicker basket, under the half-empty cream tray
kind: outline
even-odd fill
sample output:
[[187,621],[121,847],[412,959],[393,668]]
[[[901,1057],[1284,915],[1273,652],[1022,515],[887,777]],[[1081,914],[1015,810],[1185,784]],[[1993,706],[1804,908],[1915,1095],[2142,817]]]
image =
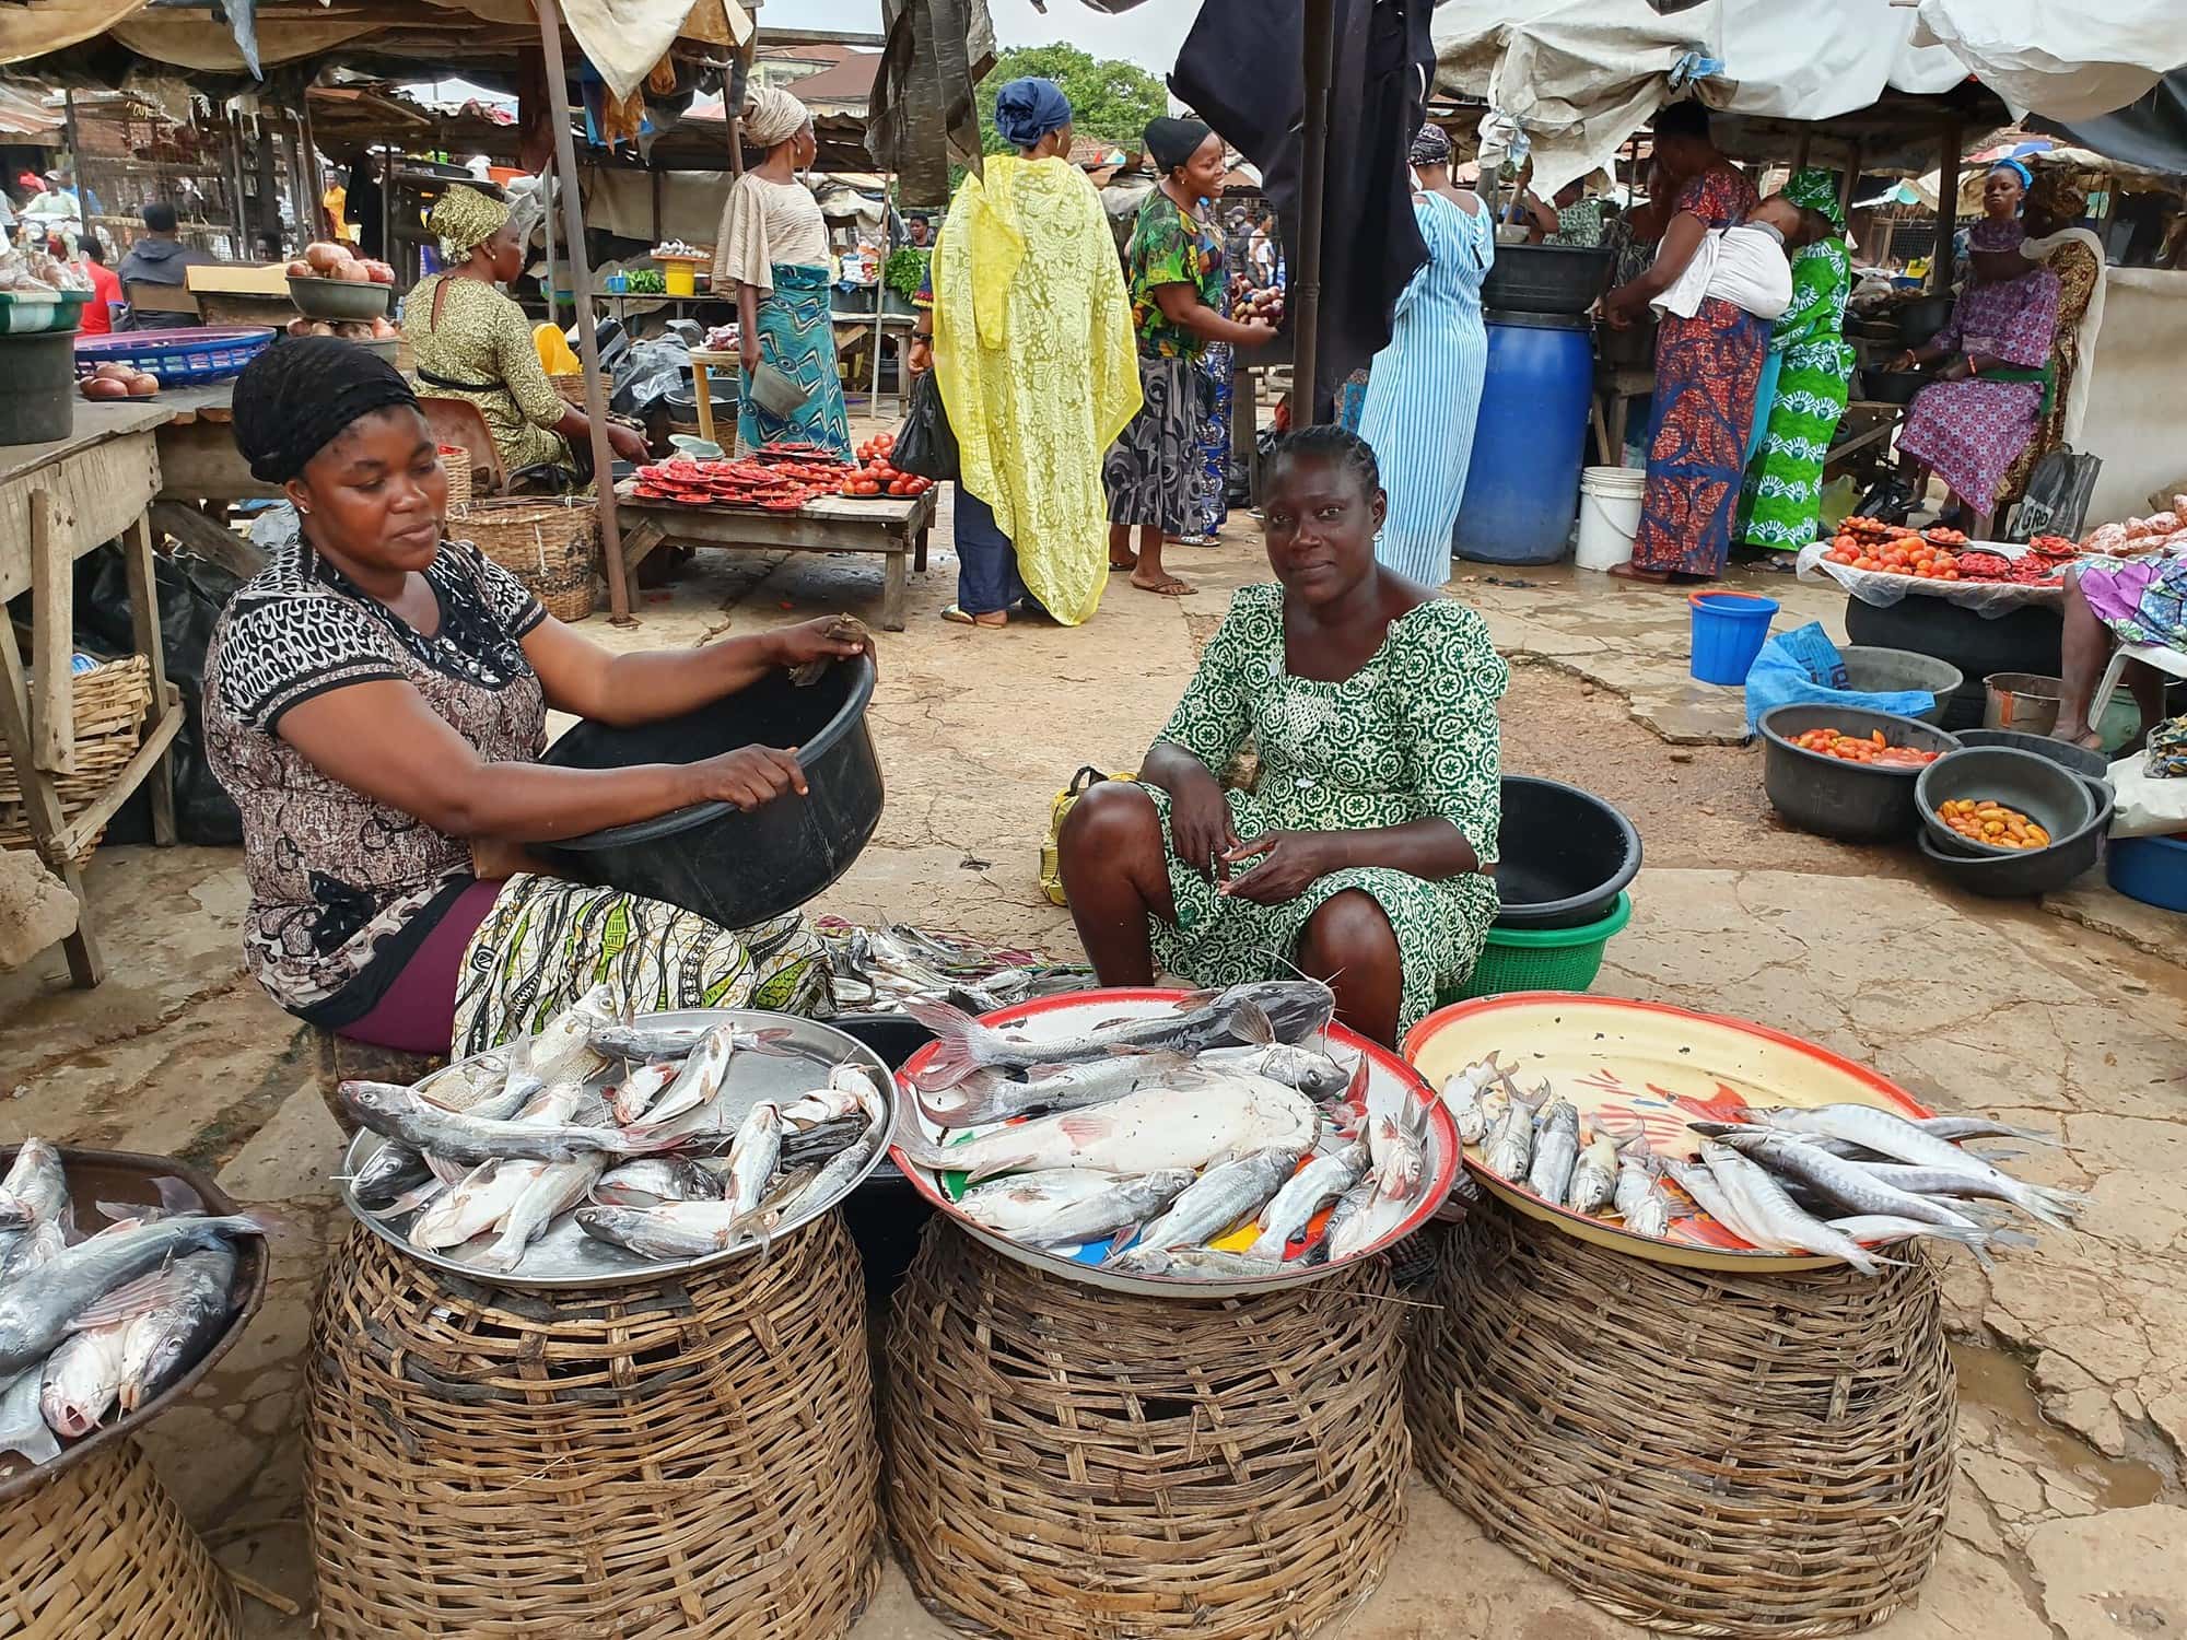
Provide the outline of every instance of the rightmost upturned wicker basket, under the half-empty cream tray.
[[1483,1203],[1413,1334],[1419,1467],[1594,1605],[1691,1636],[1826,1636],[1916,1596],[1951,1493],[1935,1273],[1723,1275]]

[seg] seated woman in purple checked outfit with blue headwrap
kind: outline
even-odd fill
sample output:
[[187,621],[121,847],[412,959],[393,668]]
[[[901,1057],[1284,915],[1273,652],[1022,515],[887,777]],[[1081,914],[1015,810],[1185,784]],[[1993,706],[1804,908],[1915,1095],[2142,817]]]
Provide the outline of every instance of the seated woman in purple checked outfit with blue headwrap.
[[1966,236],[1968,280],[1951,321],[1894,367],[1951,363],[1907,407],[1898,435],[1903,477],[1935,472],[1962,509],[1960,527],[1990,540],[1999,483],[2034,437],[2056,391],[2058,276],[2021,256],[2027,227],[2023,171],[2001,164],[1981,188],[1984,219]]

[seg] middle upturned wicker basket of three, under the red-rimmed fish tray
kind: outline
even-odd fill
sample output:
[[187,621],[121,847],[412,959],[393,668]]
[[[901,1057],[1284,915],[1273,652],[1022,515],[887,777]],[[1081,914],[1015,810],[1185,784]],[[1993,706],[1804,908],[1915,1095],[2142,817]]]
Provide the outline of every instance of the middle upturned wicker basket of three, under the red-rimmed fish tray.
[[1236,1301],[1102,1292],[932,1220],[888,1327],[888,1522],[947,1623],[1028,1640],[1310,1636],[1404,1524],[1380,1260]]

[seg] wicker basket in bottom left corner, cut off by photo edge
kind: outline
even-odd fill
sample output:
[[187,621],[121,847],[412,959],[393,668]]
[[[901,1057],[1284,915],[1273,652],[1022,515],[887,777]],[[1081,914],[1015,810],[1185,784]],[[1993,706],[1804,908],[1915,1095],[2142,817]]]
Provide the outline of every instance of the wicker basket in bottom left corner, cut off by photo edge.
[[122,1439],[0,1509],[0,1636],[232,1640],[234,1590]]

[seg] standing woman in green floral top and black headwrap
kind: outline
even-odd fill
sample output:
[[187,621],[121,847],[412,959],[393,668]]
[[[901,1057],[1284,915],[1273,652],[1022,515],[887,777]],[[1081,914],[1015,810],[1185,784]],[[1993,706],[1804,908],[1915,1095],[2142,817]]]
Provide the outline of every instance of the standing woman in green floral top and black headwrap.
[[1223,138],[1198,120],[1153,120],[1146,151],[1161,186],[1139,206],[1124,247],[1131,324],[1139,332],[1139,413],[1102,464],[1109,569],[1128,569],[1142,593],[1185,597],[1198,588],[1163,571],[1161,538],[1198,534],[1192,485],[1207,411],[1194,367],[1209,341],[1258,348],[1275,328],[1223,313],[1223,230],[1203,210],[1223,192]]

